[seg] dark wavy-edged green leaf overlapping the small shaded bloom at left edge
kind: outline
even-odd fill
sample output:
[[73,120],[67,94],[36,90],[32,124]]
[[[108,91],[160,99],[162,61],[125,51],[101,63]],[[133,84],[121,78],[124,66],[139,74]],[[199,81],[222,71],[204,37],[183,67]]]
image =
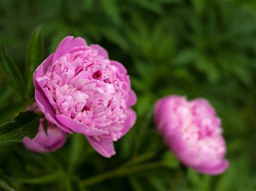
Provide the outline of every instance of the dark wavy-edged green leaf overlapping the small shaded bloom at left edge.
[[34,138],[39,128],[39,118],[35,112],[20,112],[14,117],[14,122],[8,122],[0,126],[0,143],[10,140],[21,142],[25,136]]

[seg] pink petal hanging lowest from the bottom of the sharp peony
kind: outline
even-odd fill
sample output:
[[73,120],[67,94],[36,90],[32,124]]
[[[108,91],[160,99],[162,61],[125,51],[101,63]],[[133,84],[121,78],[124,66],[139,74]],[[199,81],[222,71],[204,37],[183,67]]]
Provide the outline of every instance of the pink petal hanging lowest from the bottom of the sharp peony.
[[96,140],[94,137],[86,136],[91,146],[104,157],[110,158],[116,154],[114,151],[113,140]]

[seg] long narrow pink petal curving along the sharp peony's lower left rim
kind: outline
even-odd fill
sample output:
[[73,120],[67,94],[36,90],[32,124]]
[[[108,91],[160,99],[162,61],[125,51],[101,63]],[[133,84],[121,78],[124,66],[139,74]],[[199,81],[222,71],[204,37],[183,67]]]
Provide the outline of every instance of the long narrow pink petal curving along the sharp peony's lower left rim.
[[63,125],[67,126],[72,131],[83,133],[85,136],[99,136],[108,134],[108,131],[100,130],[100,129],[89,129],[86,125],[75,121],[69,117],[64,115],[56,115],[58,121]]

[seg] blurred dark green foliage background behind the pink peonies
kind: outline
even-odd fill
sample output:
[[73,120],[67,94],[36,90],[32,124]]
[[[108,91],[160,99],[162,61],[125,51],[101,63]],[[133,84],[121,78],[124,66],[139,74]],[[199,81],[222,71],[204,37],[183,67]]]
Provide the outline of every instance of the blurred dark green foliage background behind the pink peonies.
[[[256,1],[1,0],[0,41],[21,70],[30,34],[39,25],[45,58],[72,35],[102,45],[112,60],[122,62],[138,96],[138,119],[115,143],[117,154],[111,159],[93,151],[80,135],[69,136],[55,153],[0,144],[0,190],[3,185],[17,190],[173,189],[178,162],[152,118],[153,104],[169,94],[210,100],[223,122],[230,161],[230,168],[218,176],[188,169],[180,190],[256,189]],[[0,124],[23,109],[1,69]],[[142,161],[136,161],[141,155]],[[81,186],[80,180],[131,160],[165,160],[169,165]],[[60,178],[54,176],[57,171]],[[52,181],[43,181],[51,175]]]

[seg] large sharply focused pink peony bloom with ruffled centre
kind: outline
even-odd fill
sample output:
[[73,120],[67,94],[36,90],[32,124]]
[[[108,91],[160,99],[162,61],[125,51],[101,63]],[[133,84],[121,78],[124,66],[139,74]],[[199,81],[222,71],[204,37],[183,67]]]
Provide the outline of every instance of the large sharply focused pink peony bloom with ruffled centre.
[[78,132],[104,157],[113,141],[136,121],[136,95],[124,66],[99,45],[66,37],[36,69],[35,97],[45,117],[66,132]]

